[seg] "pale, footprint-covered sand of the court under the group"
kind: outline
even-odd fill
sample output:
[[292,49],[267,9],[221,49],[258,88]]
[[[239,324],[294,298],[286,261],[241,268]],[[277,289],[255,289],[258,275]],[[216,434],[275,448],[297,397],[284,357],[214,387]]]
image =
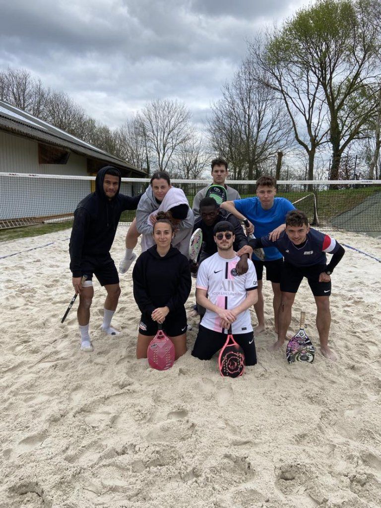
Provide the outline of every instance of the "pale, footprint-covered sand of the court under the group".
[[[125,232],[119,227],[117,261]],[[131,271],[121,279],[118,337],[99,330],[105,295],[94,283],[95,351],[81,353],[76,304],[60,324],[73,295],[69,235],[0,244],[0,256],[21,251],[0,260],[2,508],[381,505],[381,263],[347,249],[335,270],[336,363],[319,348],[313,364],[292,366],[283,351],[267,351],[275,336],[265,282],[268,330],[256,339],[259,364],[228,379],[215,359],[202,362],[190,351],[165,372],[135,359]],[[335,237],[381,259],[379,239]],[[305,282],[294,330],[302,309],[317,346]],[[188,332],[189,348],[196,329]]]

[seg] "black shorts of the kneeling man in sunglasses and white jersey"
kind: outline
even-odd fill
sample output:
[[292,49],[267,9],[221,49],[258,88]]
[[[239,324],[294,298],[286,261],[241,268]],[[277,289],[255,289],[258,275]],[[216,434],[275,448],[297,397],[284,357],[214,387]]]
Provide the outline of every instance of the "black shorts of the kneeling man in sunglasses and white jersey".
[[[233,336],[237,344],[243,349],[246,365],[255,365],[257,363],[257,351],[253,332],[236,333]],[[215,332],[200,325],[192,356],[200,360],[210,360],[223,347],[227,337],[226,333],[222,331]]]

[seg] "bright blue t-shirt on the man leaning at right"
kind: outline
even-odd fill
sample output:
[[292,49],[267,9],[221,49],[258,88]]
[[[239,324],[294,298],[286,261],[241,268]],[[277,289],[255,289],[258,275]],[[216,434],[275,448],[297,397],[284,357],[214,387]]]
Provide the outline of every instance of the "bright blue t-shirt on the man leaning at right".
[[[274,198],[274,204],[268,210],[262,208],[259,198],[245,198],[234,201],[234,206],[242,215],[249,219],[254,225],[254,235],[256,238],[268,235],[275,228],[284,224],[285,216],[290,210],[294,210],[295,206],[285,198]],[[265,261],[274,261],[281,259],[282,255],[276,247],[266,247]],[[253,255],[252,259],[259,261],[257,256]]]

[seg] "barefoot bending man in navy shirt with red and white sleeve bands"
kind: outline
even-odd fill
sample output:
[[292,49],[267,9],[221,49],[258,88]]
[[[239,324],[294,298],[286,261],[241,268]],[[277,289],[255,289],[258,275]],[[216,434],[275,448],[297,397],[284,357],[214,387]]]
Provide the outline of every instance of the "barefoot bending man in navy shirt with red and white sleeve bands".
[[[303,277],[306,277],[316,302],[316,328],[319,332],[321,351],[326,358],[336,360],[335,354],[328,347],[331,324],[329,296],[331,294],[331,273],[344,256],[345,250],[334,238],[311,229],[308,225],[307,215],[300,210],[289,212],[285,225],[285,231],[279,235],[277,240],[270,240],[267,235],[249,241],[249,248],[276,245],[284,256],[280,280],[282,293],[278,313],[278,340],[271,349],[279,349],[286,338],[291,323],[291,308],[295,295]],[[243,247],[237,252],[237,256],[242,253],[249,254],[249,248]],[[333,255],[328,265],[326,252]]]

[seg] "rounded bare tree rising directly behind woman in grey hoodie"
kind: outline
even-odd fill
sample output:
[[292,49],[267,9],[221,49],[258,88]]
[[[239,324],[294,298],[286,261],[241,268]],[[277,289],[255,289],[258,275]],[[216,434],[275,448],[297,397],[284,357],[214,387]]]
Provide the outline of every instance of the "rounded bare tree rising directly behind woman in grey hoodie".
[[138,114],[148,150],[155,154],[154,166],[165,171],[175,151],[190,137],[190,112],[184,104],[154,99]]

